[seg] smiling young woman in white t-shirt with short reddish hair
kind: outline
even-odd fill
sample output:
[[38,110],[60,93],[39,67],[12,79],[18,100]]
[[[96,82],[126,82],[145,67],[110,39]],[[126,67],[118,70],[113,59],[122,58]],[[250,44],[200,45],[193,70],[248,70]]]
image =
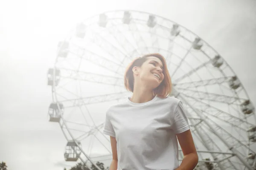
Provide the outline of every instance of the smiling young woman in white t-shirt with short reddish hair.
[[[110,170],[193,170],[198,155],[182,102],[169,97],[165,58],[147,54],[134,59],[125,72],[125,87],[132,96],[106,112]],[[184,155],[180,166],[177,139]]]

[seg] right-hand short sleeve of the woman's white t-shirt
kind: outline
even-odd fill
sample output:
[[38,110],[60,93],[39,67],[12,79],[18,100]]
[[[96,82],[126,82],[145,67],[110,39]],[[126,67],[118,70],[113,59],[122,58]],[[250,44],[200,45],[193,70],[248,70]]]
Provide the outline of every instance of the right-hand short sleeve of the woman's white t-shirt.
[[183,108],[182,102],[179,101],[174,113],[174,131],[175,134],[185,132],[189,130],[189,120],[186,115],[186,111]]

